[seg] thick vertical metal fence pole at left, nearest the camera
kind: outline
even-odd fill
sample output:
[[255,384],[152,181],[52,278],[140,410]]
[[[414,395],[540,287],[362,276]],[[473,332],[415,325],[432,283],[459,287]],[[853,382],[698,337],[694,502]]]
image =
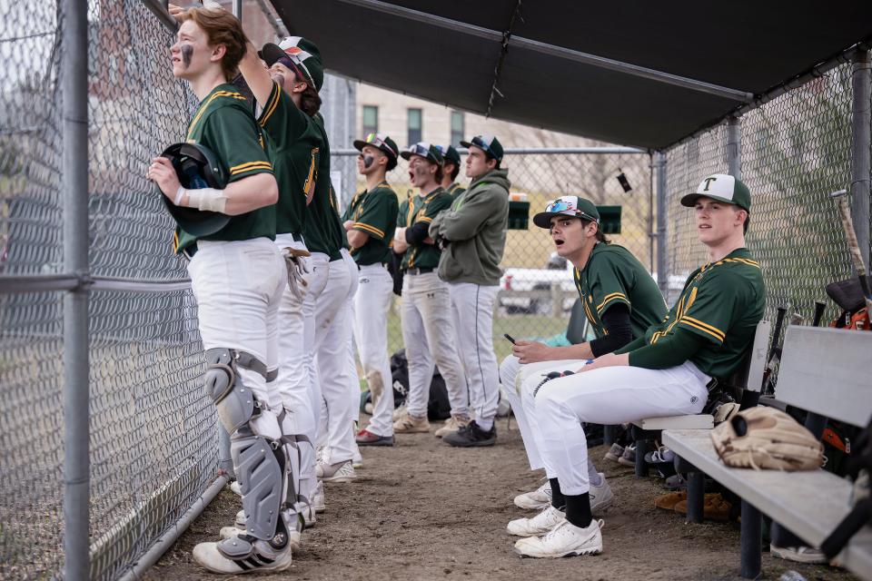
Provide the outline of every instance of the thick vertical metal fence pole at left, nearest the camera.
[[[61,5],[64,271],[88,277],[88,3]],[[89,578],[88,286],[64,295],[64,578]]]

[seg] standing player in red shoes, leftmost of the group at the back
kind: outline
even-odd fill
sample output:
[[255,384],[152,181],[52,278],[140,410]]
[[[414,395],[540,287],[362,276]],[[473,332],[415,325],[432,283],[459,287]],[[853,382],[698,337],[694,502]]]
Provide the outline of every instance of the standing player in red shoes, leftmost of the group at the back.
[[363,374],[372,394],[370,424],[357,434],[361,446],[393,446],[393,388],[388,355],[388,311],[393,280],[387,270],[399,202],[385,174],[397,166],[399,150],[393,140],[370,133],[356,140],[361,152],[357,171],[366,178],[366,190],[358,193],[342,216],[352,257],[360,268],[354,295],[354,339]]

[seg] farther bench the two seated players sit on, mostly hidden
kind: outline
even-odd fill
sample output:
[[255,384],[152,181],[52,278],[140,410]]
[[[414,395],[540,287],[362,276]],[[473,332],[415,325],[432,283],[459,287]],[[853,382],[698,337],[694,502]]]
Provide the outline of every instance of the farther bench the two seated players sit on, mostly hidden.
[[[742,359],[741,365],[733,377],[726,382],[728,388],[742,391],[742,408],[757,405],[760,387],[763,384],[763,371],[766,368],[766,351],[769,341],[771,324],[768,320],[761,320],[757,324],[754,333],[754,341],[748,348],[748,352]],[[746,392],[750,392],[746,396]],[[665,429],[711,429],[714,427],[714,419],[709,414],[697,414],[694,416],[666,416],[661,418],[639,419],[633,422],[633,440],[636,444],[636,478],[648,476],[648,463],[645,461],[645,453],[648,451],[648,442],[658,438],[660,432]],[[702,480],[693,482],[693,492],[702,496]],[[694,519],[698,516],[694,515]],[[699,514],[699,522],[702,515]]]

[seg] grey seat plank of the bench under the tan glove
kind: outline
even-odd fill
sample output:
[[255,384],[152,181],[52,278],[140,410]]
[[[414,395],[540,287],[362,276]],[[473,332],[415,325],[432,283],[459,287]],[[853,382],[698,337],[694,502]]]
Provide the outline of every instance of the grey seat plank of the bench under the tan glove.
[[[820,547],[850,510],[850,483],[824,470],[728,468],[718,459],[708,430],[667,430],[663,444],[814,547]],[[872,529],[858,533],[838,560],[872,579]]]

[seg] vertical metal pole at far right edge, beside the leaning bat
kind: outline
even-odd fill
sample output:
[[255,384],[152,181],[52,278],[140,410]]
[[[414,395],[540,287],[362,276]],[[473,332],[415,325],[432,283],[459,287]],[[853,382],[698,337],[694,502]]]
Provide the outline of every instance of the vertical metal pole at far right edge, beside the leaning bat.
[[870,132],[872,118],[869,107],[872,105],[872,76],[869,70],[869,53],[858,50],[852,59],[851,80],[854,88],[854,103],[851,108],[853,120],[851,127],[851,215],[860,252],[866,261],[867,271],[869,249],[869,172],[870,172]]

